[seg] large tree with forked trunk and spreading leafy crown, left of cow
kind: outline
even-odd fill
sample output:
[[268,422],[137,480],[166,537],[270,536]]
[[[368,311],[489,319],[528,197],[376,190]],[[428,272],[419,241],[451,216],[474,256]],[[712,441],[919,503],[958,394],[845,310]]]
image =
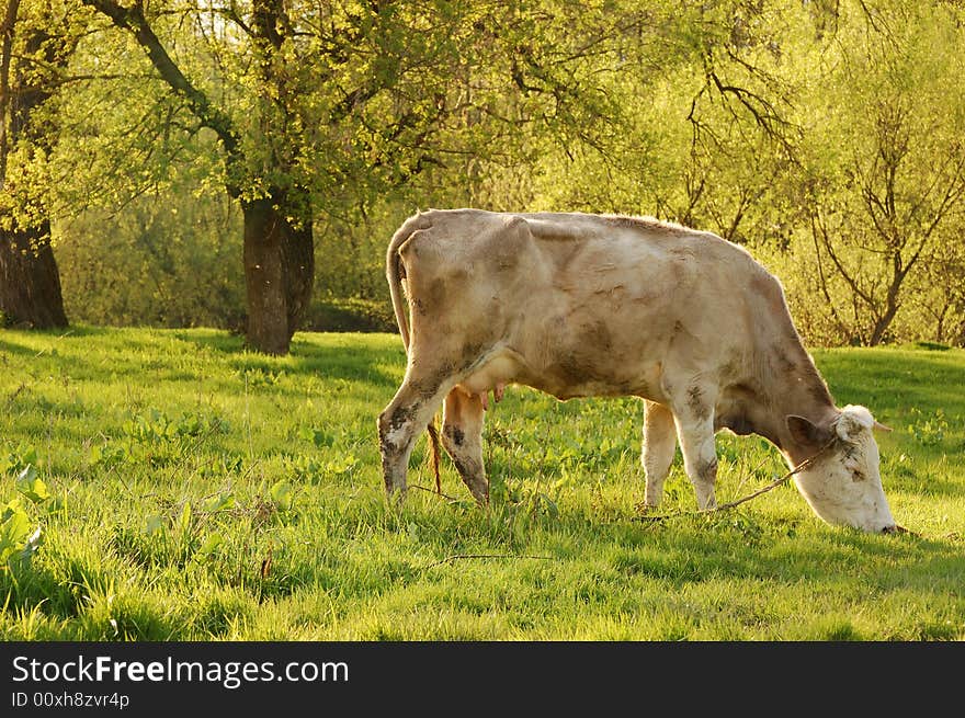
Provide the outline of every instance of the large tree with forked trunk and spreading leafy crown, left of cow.
[[311,295],[317,220],[510,156],[523,126],[587,138],[601,116],[570,73],[600,38],[554,22],[579,22],[566,3],[82,2],[143,50],[184,129],[217,137],[243,215],[248,340],[269,353]]

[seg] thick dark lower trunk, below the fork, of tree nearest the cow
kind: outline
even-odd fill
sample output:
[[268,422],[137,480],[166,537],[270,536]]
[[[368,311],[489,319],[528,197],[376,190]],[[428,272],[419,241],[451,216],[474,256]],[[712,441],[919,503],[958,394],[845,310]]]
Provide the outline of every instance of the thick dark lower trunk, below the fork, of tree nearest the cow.
[[[245,202],[245,283],[248,290],[248,343],[266,354],[287,354],[311,299],[315,247],[307,205],[293,207],[263,197]],[[277,198],[275,198],[277,197]],[[287,210],[287,212],[286,212]],[[288,219],[297,212],[300,224]]]

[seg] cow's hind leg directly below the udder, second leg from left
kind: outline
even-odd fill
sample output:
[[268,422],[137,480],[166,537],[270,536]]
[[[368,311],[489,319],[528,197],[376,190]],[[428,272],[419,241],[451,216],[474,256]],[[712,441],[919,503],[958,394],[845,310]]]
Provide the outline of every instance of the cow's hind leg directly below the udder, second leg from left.
[[480,504],[489,503],[489,481],[483,466],[483,398],[455,387],[445,397],[442,445],[463,482]]

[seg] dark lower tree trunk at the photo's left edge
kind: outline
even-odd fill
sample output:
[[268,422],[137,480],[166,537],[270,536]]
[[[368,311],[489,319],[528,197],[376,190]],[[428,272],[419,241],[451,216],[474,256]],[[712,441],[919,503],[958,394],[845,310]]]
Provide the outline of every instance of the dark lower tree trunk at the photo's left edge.
[[0,312],[13,327],[67,326],[49,223],[29,231],[0,231]]

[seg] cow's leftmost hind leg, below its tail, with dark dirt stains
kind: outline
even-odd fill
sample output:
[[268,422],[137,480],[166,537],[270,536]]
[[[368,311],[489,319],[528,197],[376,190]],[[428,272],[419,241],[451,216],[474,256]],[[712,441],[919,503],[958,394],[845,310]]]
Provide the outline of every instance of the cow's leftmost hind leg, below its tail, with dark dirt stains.
[[378,415],[378,446],[386,494],[406,497],[406,474],[409,457],[419,434],[429,426],[453,380],[424,378],[406,373],[402,386]]

